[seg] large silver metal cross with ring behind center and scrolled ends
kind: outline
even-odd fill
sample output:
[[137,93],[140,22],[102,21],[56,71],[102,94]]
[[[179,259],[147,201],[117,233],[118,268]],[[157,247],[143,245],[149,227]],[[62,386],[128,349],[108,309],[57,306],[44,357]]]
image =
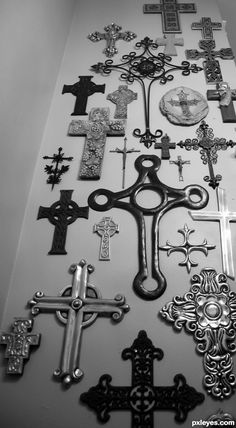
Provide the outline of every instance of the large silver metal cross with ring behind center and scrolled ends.
[[70,267],[73,274],[72,285],[65,287],[59,296],[45,296],[38,291],[29,302],[33,315],[41,311],[55,312],[65,326],[65,335],[60,367],[54,376],[64,385],[78,382],[83,377],[79,367],[79,355],[83,328],[92,325],[99,315],[111,315],[113,321],[121,321],[129,311],[124,296],[118,294],[114,299],[103,299],[100,292],[89,281],[93,266],[85,260]]

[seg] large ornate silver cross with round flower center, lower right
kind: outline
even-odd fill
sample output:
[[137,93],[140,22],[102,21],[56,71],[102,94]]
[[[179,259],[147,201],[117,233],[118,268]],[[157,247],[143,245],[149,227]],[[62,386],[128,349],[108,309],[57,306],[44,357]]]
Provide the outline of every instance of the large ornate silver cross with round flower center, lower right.
[[192,278],[190,291],[174,297],[160,314],[174,323],[177,331],[185,328],[203,354],[206,372],[204,386],[214,398],[230,397],[236,386],[231,354],[236,351],[236,293],[230,291],[223,273],[202,269]]

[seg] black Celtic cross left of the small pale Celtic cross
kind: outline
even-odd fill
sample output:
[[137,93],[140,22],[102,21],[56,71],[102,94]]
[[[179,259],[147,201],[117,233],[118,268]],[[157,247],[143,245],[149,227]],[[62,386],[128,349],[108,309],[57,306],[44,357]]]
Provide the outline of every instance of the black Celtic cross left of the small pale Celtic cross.
[[50,207],[39,207],[37,220],[47,218],[55,226],[52,247],[48,254],[67,254],[65,250],[67,228],[77,218],[87,218],[89,207],[79,207],[71,200],[73,190],[60,190],[60,200]]

